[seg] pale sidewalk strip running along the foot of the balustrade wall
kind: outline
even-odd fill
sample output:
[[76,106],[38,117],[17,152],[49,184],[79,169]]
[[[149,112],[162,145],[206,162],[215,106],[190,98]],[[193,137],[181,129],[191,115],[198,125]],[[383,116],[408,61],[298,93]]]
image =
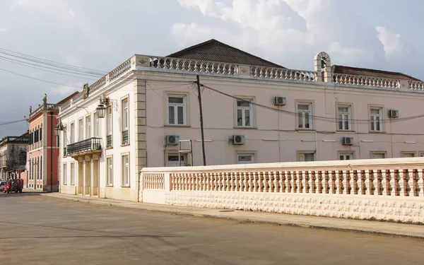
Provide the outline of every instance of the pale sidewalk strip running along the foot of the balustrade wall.
[[424,239],[424,225],[408,225],[401,223],[385,223],[379,221],[351,220],[343,218],[329,218],[317,216],[296,216],[283,213],[263,213],[254,211],[232,211],[215,208],[194,208],[183,206],[167,206],[161,204],[146,204],[132,201],[118,201],[100,199],[88,196],[76,196],[59,193],[40,193],[57,199],[67,199],[90,204],[118,206],[146,211],[160,211],[165,213],[184,214],[209,218],[225,218],[231,220],[248,221],[253,223],[269,223],[275,225],[293,225],[303,228],[321,228],[330,230],[346,230],[355,232],[370,232],[382,235],[397,235],[418,237]]

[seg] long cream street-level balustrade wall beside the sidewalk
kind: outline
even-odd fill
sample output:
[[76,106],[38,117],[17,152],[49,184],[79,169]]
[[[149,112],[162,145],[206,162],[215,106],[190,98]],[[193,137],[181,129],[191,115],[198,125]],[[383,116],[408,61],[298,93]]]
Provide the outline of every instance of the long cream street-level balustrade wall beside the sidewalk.
[[141,201],[424,223],[424,158],[145,167]]

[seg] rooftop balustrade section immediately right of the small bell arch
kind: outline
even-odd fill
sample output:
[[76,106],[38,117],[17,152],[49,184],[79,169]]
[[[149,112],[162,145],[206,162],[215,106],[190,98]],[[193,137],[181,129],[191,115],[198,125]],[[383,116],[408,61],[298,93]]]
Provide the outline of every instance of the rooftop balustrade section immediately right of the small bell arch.
[[333,82],[346,85],[375,86],[382,88],[399,88],[400,86],[400,79],[354,76],[341,73],[333,73]]

